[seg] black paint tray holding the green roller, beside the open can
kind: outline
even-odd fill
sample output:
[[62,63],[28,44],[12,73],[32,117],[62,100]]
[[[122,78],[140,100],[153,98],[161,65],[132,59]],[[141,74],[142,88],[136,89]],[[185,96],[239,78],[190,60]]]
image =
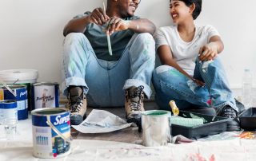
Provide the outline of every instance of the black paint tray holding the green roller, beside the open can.
[[195,112],[180,111],[178,116],[185,118],[202,118],[203,124],[193,127],[186,127],[172,124],[171,134],[183,135],[189,139],[198,139],[208,135],[216,135],[221,132],[226,132],[226,125],[229,119],[220,116],[207,116]]

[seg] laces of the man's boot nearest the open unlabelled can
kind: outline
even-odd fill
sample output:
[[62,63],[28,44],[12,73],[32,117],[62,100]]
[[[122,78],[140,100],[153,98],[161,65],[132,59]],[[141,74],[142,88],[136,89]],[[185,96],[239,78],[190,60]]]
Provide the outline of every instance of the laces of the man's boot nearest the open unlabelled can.
[[[140,101],[142,100],[142,92],[143,92],[143,86],[138,86],[137,90],[133,92],[130,95],[130,110],[131,111],[142,111],[142,104],[140,104]],[[133,98],[136,98],[138,96],[138,101],[135,101]]]

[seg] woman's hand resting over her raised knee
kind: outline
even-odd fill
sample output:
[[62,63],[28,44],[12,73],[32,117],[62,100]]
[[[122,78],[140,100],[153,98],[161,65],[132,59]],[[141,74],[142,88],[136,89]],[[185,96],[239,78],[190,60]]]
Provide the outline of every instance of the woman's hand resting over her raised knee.
[[211,61],[218,56],[218,46],[214,42],[210,42],[202,46],[199,50],[200,61]]

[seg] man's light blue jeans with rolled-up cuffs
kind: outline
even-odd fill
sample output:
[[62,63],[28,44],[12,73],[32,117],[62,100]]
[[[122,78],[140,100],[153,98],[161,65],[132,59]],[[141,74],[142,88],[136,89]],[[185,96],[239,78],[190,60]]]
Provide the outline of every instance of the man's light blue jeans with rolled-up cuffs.
[[70,85],[82,86],[87,104],[93,107],[123,106],[123,89],[132,86],[144,86],[149,98],[154,60],[150,33],[134,34],[118,61],[98,59],[83,33],[70,33],[64,40],[62,92],[67,96]]

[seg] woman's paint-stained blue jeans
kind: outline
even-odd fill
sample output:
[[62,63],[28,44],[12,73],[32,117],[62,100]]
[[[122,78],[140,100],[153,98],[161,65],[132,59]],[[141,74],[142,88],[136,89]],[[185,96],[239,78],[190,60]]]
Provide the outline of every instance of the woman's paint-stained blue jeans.
[[169,65],[154,70],[153,85],[159,108],[170,111],[169,101],[174,100],[180,109],[211,107],[218,113],[230,105],[238,111],[219,57],[214,61],[197,59],[195,63],[194,78],[205,82],[204,87]]

